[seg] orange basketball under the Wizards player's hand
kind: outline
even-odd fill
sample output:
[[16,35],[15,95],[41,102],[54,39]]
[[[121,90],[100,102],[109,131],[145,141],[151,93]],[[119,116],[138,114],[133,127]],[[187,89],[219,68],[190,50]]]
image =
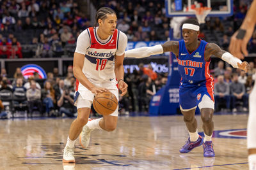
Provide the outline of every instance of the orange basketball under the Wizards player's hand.
[[110,115],[116,110],[117,105],[116,96],[111,92],[99,93],[93,99],[93,108],[100,115]]

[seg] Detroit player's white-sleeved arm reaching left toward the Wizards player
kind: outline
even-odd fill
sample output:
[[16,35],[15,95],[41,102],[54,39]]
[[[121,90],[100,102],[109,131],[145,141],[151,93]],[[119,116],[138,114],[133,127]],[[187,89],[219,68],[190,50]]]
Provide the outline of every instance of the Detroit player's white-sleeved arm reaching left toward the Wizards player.
[[145,46],[140,48],[134,48],[125,52],[125,57],[144,58],[150,55],[157,55],[164,52],[179,53],[178,41],[167,41],[163,45]]

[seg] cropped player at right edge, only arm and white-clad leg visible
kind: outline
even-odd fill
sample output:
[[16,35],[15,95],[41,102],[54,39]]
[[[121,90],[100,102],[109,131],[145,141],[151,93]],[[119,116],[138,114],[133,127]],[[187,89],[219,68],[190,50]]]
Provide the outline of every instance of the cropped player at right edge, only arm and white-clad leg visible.
[[[248,41],[251,39],[253,31],[255,31],[256,24],[256,0],[250,6],[246,13],[243,24],[238,31],[234,33],[231,38],[229,50],[230,53],[236,54],[240,59],[244,55],[248,55],[246,50]],[[243,55],[244,54],[244,55]],[[256,77],[256,74],[255,74]],[[256,82],[249,97],[249,118],[247,125],[247,148],[249,169],[256,170]]]

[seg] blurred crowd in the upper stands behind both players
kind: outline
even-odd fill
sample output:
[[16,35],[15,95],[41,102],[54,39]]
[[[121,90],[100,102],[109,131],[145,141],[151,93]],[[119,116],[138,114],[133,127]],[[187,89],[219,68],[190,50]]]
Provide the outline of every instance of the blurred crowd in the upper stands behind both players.
[[[127,34],[128,41],[166,41],[170,37],[173,18],[166,17],[164,0],[92,3],[96,9],[109,6],[116,11],[117,28]],[[249,3],[234,1],[232,17],[205,18],[200,38],[227,50],[230,36],[241,25]],[[72,0],[3,0],[0,6],[1,58],[61,57],[68,45],[74,52],[79,33],[94,25]],[[31,45],[30,48],[27,45]],[[255,47],[256,32],[248,45],[251,53],[255,52]]]

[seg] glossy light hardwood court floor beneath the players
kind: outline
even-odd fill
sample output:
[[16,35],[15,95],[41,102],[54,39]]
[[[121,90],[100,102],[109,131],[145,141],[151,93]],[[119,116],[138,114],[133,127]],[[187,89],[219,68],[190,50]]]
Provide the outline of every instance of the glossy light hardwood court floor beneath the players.
[[[61,151],[72,119],[2,120],[0,169],[248,169],[247,118],[214,115],[214,136],[238,130],[231,133],[235,138],[213,138],[216,157],[204,158],[202,146],[179,153],[188,138],[181,116],[119,117],[114,132],[92,132],[88,149],[77,140],[76,165],[65,166]],[[196,119],[202,132],[202,121]]]

